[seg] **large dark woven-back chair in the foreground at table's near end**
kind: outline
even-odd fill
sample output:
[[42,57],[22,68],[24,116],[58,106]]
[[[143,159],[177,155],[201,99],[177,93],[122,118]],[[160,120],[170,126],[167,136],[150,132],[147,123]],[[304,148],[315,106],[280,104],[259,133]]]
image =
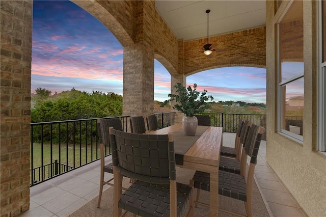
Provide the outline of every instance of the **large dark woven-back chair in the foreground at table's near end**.
[[[114,216],[121,209],[140,216],[194,215],[193,187],[176,182],[173,134],[128,133],[110,128],[114,165]],[[121,178],[134,181],[122,193]],[[193,184],[192,180],[190,181]]]

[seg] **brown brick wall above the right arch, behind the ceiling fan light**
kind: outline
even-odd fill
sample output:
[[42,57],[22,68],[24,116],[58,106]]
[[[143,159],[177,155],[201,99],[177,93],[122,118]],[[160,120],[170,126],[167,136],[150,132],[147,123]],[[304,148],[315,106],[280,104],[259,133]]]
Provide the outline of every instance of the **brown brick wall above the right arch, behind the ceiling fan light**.
[[[265,27],[209,38],[211,55],[201,53],[206,39],[184,43],[184,74],[191,75],[207,69],[227,66],[265,67]],[[221,49],[221,50],[219,50]],[[223,50],[222,50],[223,49]]]

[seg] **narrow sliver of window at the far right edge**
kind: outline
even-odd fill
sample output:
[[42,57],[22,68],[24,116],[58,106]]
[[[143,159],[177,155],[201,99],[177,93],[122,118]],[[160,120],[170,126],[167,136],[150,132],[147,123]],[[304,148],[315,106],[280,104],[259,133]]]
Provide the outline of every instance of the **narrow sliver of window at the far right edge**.
[[318,150],[326,151],[326,3],[319,1]]

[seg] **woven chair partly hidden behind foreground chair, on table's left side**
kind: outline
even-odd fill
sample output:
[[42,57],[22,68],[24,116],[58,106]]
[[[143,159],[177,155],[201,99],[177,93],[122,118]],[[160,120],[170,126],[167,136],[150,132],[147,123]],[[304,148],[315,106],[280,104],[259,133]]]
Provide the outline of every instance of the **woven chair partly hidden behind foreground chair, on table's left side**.
[[112,162],[110,164],[105,165],[105,147],[110,149],[110,134],[108,133],[108,128],[113,127],[117,130],[122,131],[122,124],[120,118],[107,118],[107,119],[97,119],[97,130],[98,130],[98,137],[100,142],[100,189],[99,189],[99,195],[98,195],[98,202],[97,207],[100,207],[101,198],[102,198],[102,192],[103,192],[103,185],[111,185],[113,186],[113,183],[111,181],[113,178],[105,181],[104,180],[104,173],[111,173],[113,174],[113,164]]

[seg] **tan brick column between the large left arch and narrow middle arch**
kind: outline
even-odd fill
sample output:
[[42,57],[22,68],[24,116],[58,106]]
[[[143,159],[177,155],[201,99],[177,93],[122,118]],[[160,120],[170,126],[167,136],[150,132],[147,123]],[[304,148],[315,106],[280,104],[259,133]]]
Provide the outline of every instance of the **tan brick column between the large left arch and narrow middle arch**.
[[135,11],[135,44],[123,52],[123,115],[145,117],[154,111],[154,2],[137,1]]

